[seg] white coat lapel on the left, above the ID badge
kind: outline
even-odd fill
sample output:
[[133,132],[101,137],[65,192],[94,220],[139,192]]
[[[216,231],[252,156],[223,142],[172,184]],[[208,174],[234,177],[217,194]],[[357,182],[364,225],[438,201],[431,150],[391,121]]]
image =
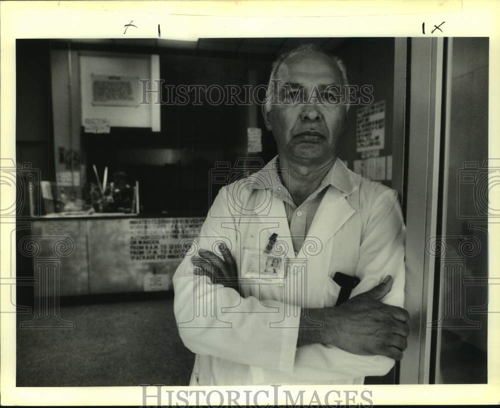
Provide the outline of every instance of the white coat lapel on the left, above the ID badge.
[[260,189],[257,193],[256,202],[262,203],[262,205],[259,205],[259,209],[255,211],[257,222],[261,225],[261,245],[265,248],[271,234],[276,233],[278,235],[275,243],[276,251],[288,258],[294,258],[295,252],[293,251],[290,228],[283,201],[276,198],[270,190]]

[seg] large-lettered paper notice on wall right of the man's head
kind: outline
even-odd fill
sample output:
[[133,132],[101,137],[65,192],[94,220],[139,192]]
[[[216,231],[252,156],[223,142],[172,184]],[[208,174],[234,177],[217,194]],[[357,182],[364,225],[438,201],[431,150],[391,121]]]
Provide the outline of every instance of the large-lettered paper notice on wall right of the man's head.
[[356,152],[383,149],[384,137],[385,101],[357,109]]

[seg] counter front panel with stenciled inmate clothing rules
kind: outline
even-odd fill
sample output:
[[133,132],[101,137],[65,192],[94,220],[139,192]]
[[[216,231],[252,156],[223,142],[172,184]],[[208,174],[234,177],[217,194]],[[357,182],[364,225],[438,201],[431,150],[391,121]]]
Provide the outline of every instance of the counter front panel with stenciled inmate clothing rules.
[[55,271],[61,296],[171,289],[183,258],[180,239],[195,238],[204,218],[133,215],[40,217],[20,251],[35,276]]

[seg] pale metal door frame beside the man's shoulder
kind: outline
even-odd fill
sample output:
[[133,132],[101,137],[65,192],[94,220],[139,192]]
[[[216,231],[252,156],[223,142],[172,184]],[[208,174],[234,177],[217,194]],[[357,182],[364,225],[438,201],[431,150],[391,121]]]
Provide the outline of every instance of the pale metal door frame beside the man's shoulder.
[[402,167],[401,163],[399,168],[393,166],[394,174],[405,170],[398,185],[406,223],[404,308],[411,317],[408,347],[400,363],[400,384],[429,384],[433,379],[431,354],[435,350],[431,350],[432,329],[427,323],[433,317],[435,287],[432,238],[438,221],[444,43],[443,38],[411,38],[406,50],[407,145],[403,145]]

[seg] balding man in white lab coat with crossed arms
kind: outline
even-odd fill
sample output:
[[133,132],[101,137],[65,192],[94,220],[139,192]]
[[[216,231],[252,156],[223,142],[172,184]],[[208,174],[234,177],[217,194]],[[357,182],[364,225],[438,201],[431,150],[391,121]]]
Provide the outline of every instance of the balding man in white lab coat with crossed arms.
[[173,278],[190,385],[362,384],[402,358],[404,224],[396,192],[336,156],[346,83],[313,46],[273,64],[262,111],[278,155],[221,188]]

